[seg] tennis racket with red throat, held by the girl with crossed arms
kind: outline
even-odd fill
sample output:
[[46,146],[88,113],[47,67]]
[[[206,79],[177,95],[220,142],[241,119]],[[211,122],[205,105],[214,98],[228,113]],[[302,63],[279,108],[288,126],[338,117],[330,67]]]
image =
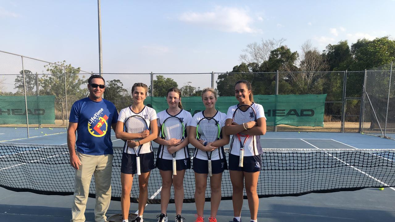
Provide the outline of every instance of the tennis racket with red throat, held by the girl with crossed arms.
[[[243,104],[239,105],[235,112],[233,113],[233,122],[236,124],[243,124],[246,122],[250,121],[256,121],[256,113],[254,108],[252,106]],[[244,137],[244,141],[241,142],[241,137]],[[239,139],[240,142],[240,156],[239,156],[239,167],[243,167],[243,160],[244,160],[244,145],[250,135],[248,134],[243,134],[242,132],[239,132],[237,134],[237,138]]]

